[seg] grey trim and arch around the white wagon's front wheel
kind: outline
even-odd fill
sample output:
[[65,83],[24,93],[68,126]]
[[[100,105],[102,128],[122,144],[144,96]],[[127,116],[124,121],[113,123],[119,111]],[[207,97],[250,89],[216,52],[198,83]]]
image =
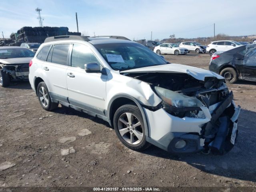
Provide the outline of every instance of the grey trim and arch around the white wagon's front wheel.
[[116,110],[120,106],[131,103],[131,102],[134,103],[140,109],[140,112],[142,114],[142,118],[144,121],[144,126],[145,126],[145,135],[148,136],[148,120],[147,120],[146,114],[141,104],[138,102],[138,100],[136,100],[136,98],[128,94],[118,94],[114,96],[108,103],[107,117],[109,119],[110,126],[113,126],[113,118]]

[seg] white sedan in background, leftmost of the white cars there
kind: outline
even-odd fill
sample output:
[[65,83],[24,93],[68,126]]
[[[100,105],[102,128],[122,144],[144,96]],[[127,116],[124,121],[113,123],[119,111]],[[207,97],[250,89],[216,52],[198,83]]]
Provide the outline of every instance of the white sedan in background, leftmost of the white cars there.
[[174,43],[163,43],[154,48],[154,52],[156,54],[174,54],[174,55],[180,55],[180,54],[187,54],[188,49],[187,48],[181,48],[177,44]]

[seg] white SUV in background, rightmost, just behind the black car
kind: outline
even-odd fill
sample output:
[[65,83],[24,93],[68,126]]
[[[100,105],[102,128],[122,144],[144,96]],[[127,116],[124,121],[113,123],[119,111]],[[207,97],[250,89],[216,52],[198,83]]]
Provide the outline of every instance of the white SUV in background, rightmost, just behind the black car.
[[222,40],[222,41],[212,41],[206,47],[206,52],[212,56],[216,51],[228,51],[235,47],[242,46],[239,42],[230,41],[230,40]]

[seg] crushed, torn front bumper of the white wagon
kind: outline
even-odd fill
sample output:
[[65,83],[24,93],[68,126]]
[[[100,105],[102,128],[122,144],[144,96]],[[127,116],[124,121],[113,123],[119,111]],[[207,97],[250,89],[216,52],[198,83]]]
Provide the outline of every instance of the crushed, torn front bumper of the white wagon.
[[[237,135],[240,106],[233,102],[233,93],[217,106],[202,108],[204,118],[179,118],[163,108],[150,111],[144,108],[148,119],[147,141],[174,154],[193,153],[210,149],[213,154],[224,154],[232,149]],[[217,130],[212,134],[212,130]],[[176,148],[180,140],[186,146]]]

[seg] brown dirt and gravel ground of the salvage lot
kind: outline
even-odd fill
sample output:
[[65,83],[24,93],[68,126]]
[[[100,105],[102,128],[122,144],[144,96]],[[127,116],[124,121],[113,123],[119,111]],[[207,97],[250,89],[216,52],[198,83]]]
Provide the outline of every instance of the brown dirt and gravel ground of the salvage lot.
[[[209,54],[165,58],[204,69],[210,61]],[[43,110],[29,82],[0,88],[0,186],[255,187],[256,83],[228,86],[242,110],[237,142],[223,156],[173,156],[155,146],[135,152],[99,118],[61,106]]]

